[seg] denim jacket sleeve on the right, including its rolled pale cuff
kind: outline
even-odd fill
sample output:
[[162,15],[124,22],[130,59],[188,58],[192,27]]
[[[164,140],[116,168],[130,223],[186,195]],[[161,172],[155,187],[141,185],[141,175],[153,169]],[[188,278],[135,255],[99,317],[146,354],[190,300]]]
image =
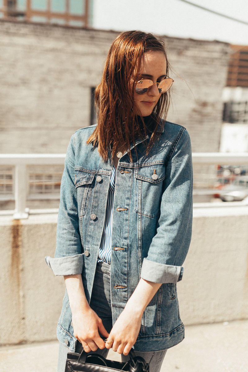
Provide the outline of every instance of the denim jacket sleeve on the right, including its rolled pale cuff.
[[192,231],[193,170],[190,137],[186,129],[175,144],[165,169],[157,233],[144,258],[141,278],[155,283],[182,279]]

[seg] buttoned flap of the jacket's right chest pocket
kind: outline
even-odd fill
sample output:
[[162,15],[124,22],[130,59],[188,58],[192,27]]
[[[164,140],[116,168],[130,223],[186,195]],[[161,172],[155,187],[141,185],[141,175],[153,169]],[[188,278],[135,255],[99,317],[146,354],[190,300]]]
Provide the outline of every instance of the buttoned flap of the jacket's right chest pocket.
[[153,164],[149,166],[142,166],[134,171],[136,179],[148,181],[151,183],[159,183],[165,178],[164,164]]

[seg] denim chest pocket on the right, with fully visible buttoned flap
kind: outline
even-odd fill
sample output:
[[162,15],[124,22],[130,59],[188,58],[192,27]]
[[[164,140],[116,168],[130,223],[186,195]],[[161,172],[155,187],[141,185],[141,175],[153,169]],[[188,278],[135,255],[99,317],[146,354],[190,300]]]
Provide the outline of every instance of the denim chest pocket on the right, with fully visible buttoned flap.
[[135,211],[153,218],[160,211],[164,164],[152,164],[135,169]]

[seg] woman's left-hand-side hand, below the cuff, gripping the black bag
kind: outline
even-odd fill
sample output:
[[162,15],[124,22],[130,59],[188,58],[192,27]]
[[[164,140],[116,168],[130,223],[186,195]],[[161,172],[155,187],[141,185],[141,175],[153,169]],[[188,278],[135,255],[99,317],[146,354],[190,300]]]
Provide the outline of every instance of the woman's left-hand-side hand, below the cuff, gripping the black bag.
[[80,308],[72,312],[72,323],[74,337],[81,342],[86,353],[96,351],[98,347],[104,349],[105,343],[99,332],[104,337],[108,337],[109,334],[94,310],[88,306],[87,309]]

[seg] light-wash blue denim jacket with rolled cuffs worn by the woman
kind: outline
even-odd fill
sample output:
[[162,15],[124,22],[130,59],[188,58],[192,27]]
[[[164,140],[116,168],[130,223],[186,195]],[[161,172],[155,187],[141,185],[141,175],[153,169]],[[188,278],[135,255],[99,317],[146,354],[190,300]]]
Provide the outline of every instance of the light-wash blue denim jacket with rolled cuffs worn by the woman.
[[[82,274],[88,302],[101,242],[113,163],[87,145],[95,125],[71,137],[61,181],[55,258],[46,263],[55,275]],[[191,239],[192,160],[185,128],[162,122],[160,137],[145,155],[138,139],[133,163],[125,153],[116,170],[112,225],[111,300],[113,323],[139,279],[163,283],[146,307],[135,350],[167,349],[184,338],[176,283]],[[57,336],[75,351],[71,310],[65,291]]]

